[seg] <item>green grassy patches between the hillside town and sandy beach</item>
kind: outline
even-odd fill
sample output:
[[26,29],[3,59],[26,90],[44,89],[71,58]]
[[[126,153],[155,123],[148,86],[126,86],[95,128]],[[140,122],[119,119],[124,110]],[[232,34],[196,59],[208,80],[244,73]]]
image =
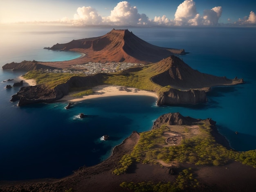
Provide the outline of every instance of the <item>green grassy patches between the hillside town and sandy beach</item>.
[[[164,92],[168,91],[171,86],[161,87],[156,83],[153,83],[151,78],[159,73],[161,73],[162,69],[156,69],[154,64],[145,66],[140,71],[130,72],[130,73],[116,73],[116,74],[106,74],[104,76],[104,80],[100,83],[102,84],[109,84],[109,85],[120,85],[125,87],[134,87],[137,89],[143,89],[148,91],[154,92]],[[84,76],[83,74],[71,74],[71,73],[53,73],[45,70],[34,70],[29,71],[25,74],[24,78],[26,79],[35,79],[36,84],[44,84],[49,88],[54,88],[56,85],[66,83],[73,76]],[[86,86],[86,85],[85,85]],[[75,87],[72,88],[71,91]],[[83,90],[85,91],[79,93],[77,96],[83,96],[86,94],[92,94],[92,91],[88,90],[91,89],[88,87],[84,87]],[[76,95],[76,94],[75,94]]]

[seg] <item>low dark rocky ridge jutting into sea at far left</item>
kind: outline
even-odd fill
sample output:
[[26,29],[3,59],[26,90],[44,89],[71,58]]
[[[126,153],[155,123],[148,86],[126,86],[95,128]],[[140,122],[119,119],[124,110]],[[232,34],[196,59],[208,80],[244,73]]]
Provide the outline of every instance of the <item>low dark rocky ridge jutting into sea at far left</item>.
[[37,61],[22,61],[20,63],[7,63],[2,66],[2,69],[11,69],[13,71],[31,71],[38,69],[57,69],[56,67],[50,67],[43,64],[38,63]]

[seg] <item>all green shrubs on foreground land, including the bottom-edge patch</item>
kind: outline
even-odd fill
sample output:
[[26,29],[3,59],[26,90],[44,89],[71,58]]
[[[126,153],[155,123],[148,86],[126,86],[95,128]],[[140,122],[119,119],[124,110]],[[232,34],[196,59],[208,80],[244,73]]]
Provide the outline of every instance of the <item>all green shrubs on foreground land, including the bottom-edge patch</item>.
[[[170,127],[167,125],[141,133],[133,151],[121,158],[120,166],[112,173],[117,175],[126,173],[129,166],[135,162],[156,164],[159,160],[165,163],[178,162],[212,166],[224,165],[227,161],[234,160],[256,168],[256,150],[247,152],[228,150],[216,143],[209,123],[201,122],[200,124],[198,125],[199,132],[194,135],[188,126],[175,125],[171,127],[171,130],[175,132],[180,129],[179,132],[183,137],[180,145],[170,146],[165,142],[167,136],[164,133],[170,132]],[[120,186],[135,192],[177,192],[188,189],[196,191],[198,187],[202,187],[194,178],[191,168],[182,170],[173,183],[123,182]]]

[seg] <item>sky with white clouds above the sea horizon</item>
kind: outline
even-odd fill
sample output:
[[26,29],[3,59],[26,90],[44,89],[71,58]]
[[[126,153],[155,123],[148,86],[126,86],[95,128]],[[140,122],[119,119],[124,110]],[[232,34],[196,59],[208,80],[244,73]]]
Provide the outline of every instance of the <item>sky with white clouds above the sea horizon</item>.
[[0,0],[0,23],[256,25],[255,0]]

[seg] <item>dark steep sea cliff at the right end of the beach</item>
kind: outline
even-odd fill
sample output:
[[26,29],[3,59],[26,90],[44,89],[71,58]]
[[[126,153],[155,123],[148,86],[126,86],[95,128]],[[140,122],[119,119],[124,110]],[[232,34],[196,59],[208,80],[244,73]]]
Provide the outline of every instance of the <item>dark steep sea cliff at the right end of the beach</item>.
[[197,104],[207,102],[206,92],[203,90],[190,89],[180,91],[169,89],[158,95],[157,105],[180,105],[180,104]]

